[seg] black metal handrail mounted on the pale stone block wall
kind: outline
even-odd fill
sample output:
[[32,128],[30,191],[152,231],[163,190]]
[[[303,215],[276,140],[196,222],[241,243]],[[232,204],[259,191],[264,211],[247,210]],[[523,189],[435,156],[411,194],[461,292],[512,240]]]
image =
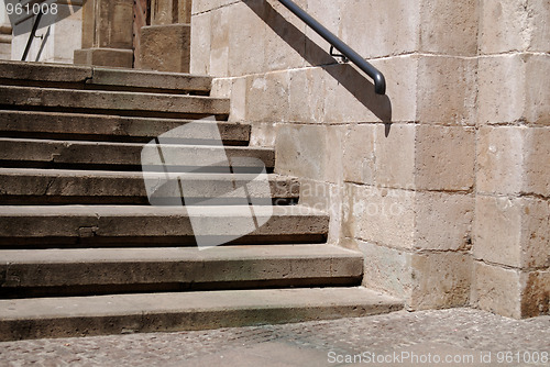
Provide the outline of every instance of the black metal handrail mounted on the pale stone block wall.
[[384,75],[367,63],[360,54],[358,54],[353,48],[348,46],[339,37],[337,37],[332,32],[322,26],[315,18],[309,15],[304,9],[298,7],[294,1],[290,0],[278,0],[288,10],[290,10],[296,16],[301,19],[309,27],[316,31],[321,37],[323,37],[328,43],[330,43],[334,48],[342,53],[349,60],[355,64],[361,70],[365,71],[374,80],[374,90],[377,94],[386,93],[386,78]]

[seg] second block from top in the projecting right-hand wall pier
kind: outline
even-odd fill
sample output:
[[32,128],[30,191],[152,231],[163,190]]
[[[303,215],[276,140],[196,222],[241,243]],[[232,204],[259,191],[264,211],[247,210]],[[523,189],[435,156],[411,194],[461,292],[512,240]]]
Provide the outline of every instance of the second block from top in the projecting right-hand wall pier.
[[480,124],[550,124],[550,55],[499,55],[479,64]]

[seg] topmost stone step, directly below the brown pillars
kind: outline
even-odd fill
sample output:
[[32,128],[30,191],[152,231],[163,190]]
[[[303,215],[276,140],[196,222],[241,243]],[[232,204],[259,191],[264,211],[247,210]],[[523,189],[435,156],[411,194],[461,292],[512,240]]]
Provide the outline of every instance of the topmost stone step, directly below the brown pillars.
[[0,85],[208,94],[212,78],[101,66],[1,60]]

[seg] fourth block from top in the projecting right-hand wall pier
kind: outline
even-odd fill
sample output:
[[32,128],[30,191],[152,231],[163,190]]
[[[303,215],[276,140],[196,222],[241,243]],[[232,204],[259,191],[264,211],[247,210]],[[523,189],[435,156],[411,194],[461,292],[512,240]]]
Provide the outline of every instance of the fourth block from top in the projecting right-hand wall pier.
[[550,265],[547,200],[477,196],[475,218],[475,258],[517,268]]

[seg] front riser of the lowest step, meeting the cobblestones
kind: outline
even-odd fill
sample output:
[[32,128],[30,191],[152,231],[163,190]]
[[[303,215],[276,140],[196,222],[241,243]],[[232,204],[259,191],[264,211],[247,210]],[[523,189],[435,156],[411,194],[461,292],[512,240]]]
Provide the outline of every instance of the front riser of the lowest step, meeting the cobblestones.
[[128,333],[156,333],[283,324],[314,320],[365,318],[399,311],[403,305],[333,305],[308,309],[270,308],[185,313],[145,313],[117,316],[66,316],[41,320],[0,320],[0,342],[46,337],[78,337]]

